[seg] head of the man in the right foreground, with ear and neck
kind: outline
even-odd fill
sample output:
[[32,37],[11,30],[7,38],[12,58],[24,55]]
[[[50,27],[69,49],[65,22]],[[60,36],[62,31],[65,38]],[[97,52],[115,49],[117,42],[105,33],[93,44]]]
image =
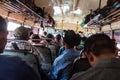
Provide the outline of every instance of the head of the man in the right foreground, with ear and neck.
[[91,65],[104,58],[115,58],[116,46],[105,34],[94,34],[90,36],[84,45],[84,51]]

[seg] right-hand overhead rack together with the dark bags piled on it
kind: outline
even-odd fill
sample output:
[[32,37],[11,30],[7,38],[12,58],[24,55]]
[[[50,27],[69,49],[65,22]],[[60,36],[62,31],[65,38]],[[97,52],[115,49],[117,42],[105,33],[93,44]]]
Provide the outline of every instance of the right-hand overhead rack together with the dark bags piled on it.
[[101,0],[99,8],[95,11],[91,10],[90,14],[85,17],[87,28],[101,28],[102,26],[120,21],[120,1],[108,0],[107,5],[101,8]]

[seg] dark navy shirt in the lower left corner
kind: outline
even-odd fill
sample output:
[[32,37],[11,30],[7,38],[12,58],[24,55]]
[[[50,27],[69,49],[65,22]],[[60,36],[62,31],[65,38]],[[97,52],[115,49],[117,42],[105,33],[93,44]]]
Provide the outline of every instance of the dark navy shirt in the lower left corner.
[[20,58],[0,55],[0,80],[40,80],[40,76]]

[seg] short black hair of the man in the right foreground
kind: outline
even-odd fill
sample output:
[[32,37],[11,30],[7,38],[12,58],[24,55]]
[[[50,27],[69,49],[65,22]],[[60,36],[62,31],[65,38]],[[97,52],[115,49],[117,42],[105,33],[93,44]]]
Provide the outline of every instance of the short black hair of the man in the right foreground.
[[115,53],[115,45],[113,41],[105,34],[99,33],[90,36],[84,45],[84,51],[92,52],[95,56],[105,53]]

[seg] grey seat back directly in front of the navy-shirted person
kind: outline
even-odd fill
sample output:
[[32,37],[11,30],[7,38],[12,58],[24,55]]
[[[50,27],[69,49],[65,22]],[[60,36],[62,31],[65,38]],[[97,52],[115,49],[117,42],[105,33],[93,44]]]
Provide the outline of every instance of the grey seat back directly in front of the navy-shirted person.
[[30,64],[30,66],[32,66],[37,71],[40,69],[40,64],[37,56],[27,50],[5,50],[1,55],[18,56]]

